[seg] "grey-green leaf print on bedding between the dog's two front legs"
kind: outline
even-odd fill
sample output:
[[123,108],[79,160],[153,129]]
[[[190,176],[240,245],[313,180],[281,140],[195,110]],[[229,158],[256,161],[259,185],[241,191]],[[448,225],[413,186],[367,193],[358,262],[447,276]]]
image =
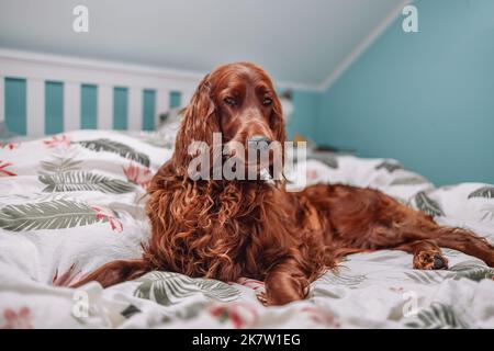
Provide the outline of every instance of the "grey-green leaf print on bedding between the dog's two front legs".
[[229,302],[240,292],[226,283],[212,279],[189,278],[173,272],[150,272],[137,280],[141,285],[134,295],[157,302],[160,305],[175,305],[181,299],[203,294],[207,299]]

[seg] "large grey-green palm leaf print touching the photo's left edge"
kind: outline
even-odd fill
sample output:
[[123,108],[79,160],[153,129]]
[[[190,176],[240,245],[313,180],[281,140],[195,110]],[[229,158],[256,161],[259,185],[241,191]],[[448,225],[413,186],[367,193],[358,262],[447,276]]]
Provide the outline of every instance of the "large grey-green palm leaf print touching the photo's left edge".
[[11,231],[61,229],[105,223],[88,204],[67,200],[8,205],[0,208],[0,228]]

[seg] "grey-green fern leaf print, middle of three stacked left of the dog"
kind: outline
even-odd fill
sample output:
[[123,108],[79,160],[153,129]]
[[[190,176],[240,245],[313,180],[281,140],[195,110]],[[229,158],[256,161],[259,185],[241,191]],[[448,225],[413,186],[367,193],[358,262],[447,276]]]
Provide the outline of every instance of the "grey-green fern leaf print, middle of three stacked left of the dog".
[[46,185],[43,192],[66,192],[66,191],[100,191],[102,193],[123,194],[135,190],[135,185],[120,179],[70,171],[58,174],[40,176],[38,180]]

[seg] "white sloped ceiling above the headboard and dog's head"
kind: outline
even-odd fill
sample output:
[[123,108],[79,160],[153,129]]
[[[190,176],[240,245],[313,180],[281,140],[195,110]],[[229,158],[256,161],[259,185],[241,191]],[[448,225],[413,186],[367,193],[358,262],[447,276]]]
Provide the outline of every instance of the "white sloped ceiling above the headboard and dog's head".
[[[402,2],[0,0],[0,46],[198,72],[251,60],[279,81],[319,86]],[[77,4],[89,33],[72,31]]]

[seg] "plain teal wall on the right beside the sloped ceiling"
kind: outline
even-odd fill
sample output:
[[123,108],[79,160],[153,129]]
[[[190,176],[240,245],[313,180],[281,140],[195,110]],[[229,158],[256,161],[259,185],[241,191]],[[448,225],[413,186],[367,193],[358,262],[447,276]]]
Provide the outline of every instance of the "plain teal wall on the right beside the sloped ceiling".
[[324,92],[318,143],[388,157],[436,184],[494,183],[494,1],[415,1]]

